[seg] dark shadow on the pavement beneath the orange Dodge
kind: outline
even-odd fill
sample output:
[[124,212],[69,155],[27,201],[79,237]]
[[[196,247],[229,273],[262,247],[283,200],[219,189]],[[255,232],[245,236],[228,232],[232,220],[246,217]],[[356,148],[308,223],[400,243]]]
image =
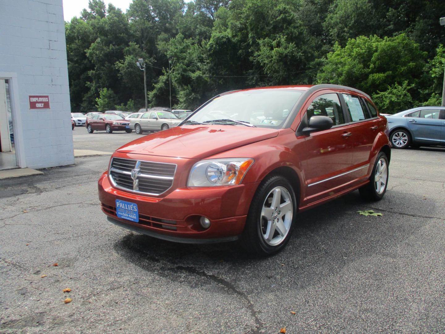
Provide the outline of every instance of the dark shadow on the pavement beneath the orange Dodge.
[[[404,196],[411,203],[416,201],[413,195]],[[252,257],[235,242],[178,244],[133,232],[118,240],[114,250],[126,261],[171,279],[192,274],[213,281],[221,277],[233,281],[242,275],[239,284],[262,277],[265,282],[261,284],[267,285],[268,279],[283,272],[291,284],[308,286],[317,284],[323,277],[340,274],[345,267],[350,270],[357,263],[364,265],[382,254],[397,252],[397,245],[403,244],[423,225],[414,218],[395,221],[396,214],[392,213],[385,213],[383,217],[357,213],[373,206],[376,204],[365,202],[358,191],[354,191],[301,212],[289,243],[271,257]],[[363,270],[378,271],[379,268]]]

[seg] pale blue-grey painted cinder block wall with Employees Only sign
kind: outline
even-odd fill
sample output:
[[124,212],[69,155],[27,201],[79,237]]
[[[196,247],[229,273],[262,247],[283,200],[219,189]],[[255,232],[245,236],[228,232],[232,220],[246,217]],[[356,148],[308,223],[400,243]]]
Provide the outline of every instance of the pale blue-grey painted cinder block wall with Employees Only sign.
[[[17,73],[20,167],[74,163],[66,59],[62,0],[0,0],[0,73]],[[50,109],[30,110],[28,95],[49,95]]]

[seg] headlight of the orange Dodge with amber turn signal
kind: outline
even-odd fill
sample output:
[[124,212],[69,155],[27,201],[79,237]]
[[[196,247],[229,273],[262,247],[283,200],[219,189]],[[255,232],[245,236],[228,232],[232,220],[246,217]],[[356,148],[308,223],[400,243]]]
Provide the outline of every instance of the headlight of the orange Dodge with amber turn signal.
[[190,171],[189,187],[214,187],[239,184],[254,163],[252,158],[202,160]]

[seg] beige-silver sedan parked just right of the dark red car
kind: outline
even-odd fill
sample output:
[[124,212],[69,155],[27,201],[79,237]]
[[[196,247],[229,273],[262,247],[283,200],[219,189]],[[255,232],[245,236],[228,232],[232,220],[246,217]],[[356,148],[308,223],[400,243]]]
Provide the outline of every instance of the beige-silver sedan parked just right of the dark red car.
[[167,130],[181,122],[182,119],[169,111],[149,111],[141,114],[139,118],[131,118],[130,129],[142,134],[144,131]]

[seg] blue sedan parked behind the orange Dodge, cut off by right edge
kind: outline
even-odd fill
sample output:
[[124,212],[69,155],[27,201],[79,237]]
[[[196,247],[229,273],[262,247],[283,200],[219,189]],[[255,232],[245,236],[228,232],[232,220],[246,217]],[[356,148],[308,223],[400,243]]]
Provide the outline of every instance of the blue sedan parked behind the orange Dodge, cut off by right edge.
[[394,148],[445,146],[445,107],[418,107],[385,117]]

